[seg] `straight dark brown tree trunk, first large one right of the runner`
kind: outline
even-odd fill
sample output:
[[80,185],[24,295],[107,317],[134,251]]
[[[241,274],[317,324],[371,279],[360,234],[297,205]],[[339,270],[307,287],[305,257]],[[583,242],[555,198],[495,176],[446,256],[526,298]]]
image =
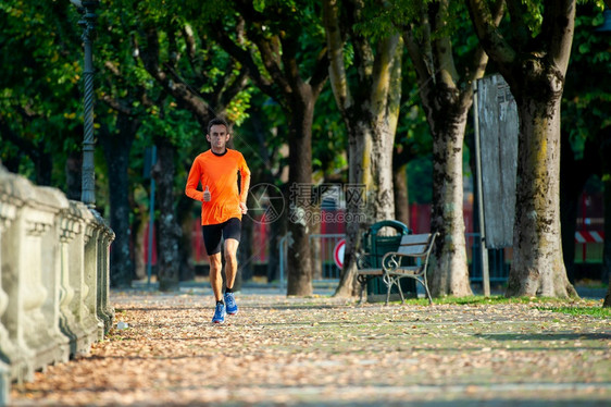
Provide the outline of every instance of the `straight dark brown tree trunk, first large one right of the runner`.
[[[312,121],[315,99],[294,102],[289,115],[288,185],[290,235],[287,250],[287,295],[312,295],[312,258],[309,218],[312,214]],[[296,114],[297,112],[302,114]]]

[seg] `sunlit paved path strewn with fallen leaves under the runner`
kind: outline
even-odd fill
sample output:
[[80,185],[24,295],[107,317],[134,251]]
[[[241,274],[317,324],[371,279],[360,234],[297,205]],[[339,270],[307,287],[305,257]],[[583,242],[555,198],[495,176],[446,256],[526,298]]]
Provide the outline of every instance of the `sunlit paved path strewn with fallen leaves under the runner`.
[[[274,292],[276,293],[276,292]],[[13,405],[609,405],[611,320],[540,305],[357,306],[249,291],[213,325],[209,289],[112,293],[90,355]],[[589,301],[595,305],[596,303]],[[598,306],[600,301],[598,301]]]

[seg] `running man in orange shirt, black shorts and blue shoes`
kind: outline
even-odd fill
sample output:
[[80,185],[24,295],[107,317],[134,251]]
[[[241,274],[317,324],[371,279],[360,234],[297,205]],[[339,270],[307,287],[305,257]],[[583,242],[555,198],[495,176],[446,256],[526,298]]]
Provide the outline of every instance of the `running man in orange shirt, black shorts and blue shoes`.
[[[210,150],[194,160],[185,194],[201,201],[201,229],[205,251],[210,257],[210,284],[216,299],[212,322],[225,322],[225,313],[238,313],[234,282],[238,270],[236,252],[241,233],[241,215],[247,212],[246,198],[250,186],[250,170],[244,156],[226,147],[229,126],[223,119],[208,124],[205,138]],[[238,190],[238,172],[241,176]],[[201,183],[203,190],[198,189]],[[222,295],[221,237],[225,240],[225,295]]]

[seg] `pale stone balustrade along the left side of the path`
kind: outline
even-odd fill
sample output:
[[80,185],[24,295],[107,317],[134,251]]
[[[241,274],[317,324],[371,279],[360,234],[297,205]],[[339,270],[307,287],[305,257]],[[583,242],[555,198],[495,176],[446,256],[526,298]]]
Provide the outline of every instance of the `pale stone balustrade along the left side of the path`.
[[11,382],[103,340],[113,238],[96,211],[0,165],[0,405]]

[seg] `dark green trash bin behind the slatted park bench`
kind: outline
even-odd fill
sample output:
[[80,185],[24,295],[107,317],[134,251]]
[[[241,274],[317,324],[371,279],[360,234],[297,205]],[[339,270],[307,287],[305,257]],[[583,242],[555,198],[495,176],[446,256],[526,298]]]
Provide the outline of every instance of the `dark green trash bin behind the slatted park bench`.
[[[397,231],[397,234],[390,236],[379,235],[383,227],[392,227]],[[363,251],[369,254],[366,258],[370,264],[369,267],[382,268],[382,258],[384,255],[389,251],[397,251],[402,236],[409,234],[412,234],[412,231],[399,221],[382,221],[371,225],[363,235]],[[407,261],[410,261],[410,259],[404,258],[403,261],[404,266],[409,266]],[[415,280],[401,279],[400,284],[406,298],[416,298]],[[385,301],[387,289],[382,278],[370,279],[367,282],[367,301]],[[390,289],[390,299],[395,299],[395,297],[399,297],[399,289],[392,286]]]

